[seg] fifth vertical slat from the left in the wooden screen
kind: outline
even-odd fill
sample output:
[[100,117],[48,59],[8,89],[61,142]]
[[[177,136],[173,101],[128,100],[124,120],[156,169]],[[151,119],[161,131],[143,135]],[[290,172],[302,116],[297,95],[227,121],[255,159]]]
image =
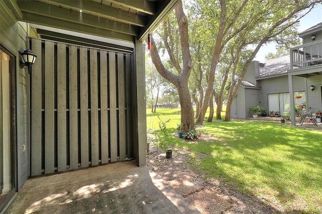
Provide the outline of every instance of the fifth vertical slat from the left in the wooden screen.
[[87,48],[79,48],[81,68],[81,167],[89,166],[89,111]]

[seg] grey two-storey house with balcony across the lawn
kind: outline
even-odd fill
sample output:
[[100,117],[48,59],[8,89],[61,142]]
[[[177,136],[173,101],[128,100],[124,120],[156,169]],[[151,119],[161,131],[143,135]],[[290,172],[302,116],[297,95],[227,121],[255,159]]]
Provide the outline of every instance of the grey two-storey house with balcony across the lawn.
[[[261,105],[267,113],[279,111],[280,115],[291,111],[291,118],[295,118],[294,105],[302,102],[313,113],[322,110],[322,23],[299,37],[303,45],[291,48],[290,56],[250,64],[232,103],[231,117],[251,117],[251,105]],[[310,86],[314,86],[313,91]],[[295,99],[296,94],[302,98]]]

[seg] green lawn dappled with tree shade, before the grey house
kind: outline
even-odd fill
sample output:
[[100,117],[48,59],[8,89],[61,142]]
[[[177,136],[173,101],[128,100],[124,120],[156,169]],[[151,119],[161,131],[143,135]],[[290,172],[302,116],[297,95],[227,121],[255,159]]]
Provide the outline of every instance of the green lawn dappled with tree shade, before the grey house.
[[[169,132],[180,122],[177,110],[158,109],[171,119]],[[147,116],[148,128],[158,127]],[[173,135],[173,145],[192,153],[191,163],[205,176],[219,178],[241,192],[253,194],[287,212],[322,212],[322,132],[279,122],[215,121],[197,128],[211,136],[198,142]],[[196,158],[202,152],[212,157]],[[175,154],[174,154],[175,155]]]

